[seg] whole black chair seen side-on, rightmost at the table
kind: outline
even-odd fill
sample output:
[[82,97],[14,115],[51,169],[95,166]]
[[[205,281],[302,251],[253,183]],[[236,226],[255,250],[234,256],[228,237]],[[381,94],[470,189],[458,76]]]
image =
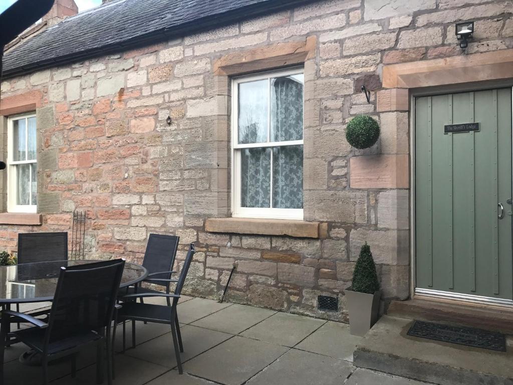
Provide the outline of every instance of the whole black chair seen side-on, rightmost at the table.
[[[184,287],[185,278],[187,277],[187,272],[189,271],[189,267],[192,261],[192,257],[195,253],[194,244],[191,243],[189,247],[189,252],[185,257],[184,264],[182,265],[182,271],[180,272],[180,277],[176,280],[176,288],[174,290],[174,294],[164,294],[160,292],[156,293],[133,293],[122,296],[121,299],[123,302],[121,309],[118,313],[118,321],[126,321],[131,320],[132,323],[134,321],[146,321],[153,323],[165,323],[171,325],[171,334],[173,336],[173,345],[174,345],[174,353],[176,355],[176,363],[178,365],[178,371],[180,374],[182,371],[182,360],[180,358],[180,352],[184,351],[183,343],[182,343],[182,335],[180,333],[180,323],[178,321],[178,315],[176,314],[176,305],[178,304],[178,300],[180,299],[180,295],[182,293],[182,288]],[[150,303],[142,303],[130,301],[135,298],[144,298],[144,297],[166,297],[172,298],[171,306],[166,305],[155,305]],[[125,347],[125,330],[123,330],[123,348]],[[135,340],[132,339],[132,347],[135,348]]]

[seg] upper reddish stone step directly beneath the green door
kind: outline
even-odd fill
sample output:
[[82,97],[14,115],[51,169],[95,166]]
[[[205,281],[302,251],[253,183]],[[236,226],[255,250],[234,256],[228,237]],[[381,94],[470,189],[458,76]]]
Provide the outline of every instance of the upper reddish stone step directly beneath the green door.
[[513,307],[414,298],[392,301],[387,315],[513,334]]

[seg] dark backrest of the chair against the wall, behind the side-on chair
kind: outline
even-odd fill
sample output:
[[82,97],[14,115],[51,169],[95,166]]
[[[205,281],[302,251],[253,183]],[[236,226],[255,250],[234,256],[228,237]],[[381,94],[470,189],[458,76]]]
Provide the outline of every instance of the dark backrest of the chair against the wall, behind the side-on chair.
[[[180,237],[174,235],[150,234],[144,253],[143,266],[148,273],[169,272],[173,268],[178,242]],[[155,278],[169,278],[168,276],[155,276]],[[166,286],[164,281],[152,281],[156,285]]]

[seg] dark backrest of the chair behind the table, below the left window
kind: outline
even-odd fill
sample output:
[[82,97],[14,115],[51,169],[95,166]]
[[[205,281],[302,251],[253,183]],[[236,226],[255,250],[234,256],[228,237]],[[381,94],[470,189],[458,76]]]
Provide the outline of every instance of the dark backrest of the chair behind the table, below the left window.
[[68,233],[19,233],[18,263],[68,260]]

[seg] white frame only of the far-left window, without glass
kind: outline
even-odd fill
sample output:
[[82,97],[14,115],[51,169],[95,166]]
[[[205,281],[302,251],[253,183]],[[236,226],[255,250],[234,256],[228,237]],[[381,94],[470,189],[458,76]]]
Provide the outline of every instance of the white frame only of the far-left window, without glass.
[[[25,160],[25,161],[13,161],[14,155],[14,121],[29,118],[35,118],[35,113],[23,114],[23,115],[13,115],[9,117],[7,122],[7,211],[9,213],[37,213],[37,205],[28,204],[28,205],[19,205],[16,204],[16,196],[17,196],[17,183],[16,183],[16,167],[15,165],[19,164],[36,164],[37,165],[37,152],[35,160]],[[28,122],[25,124],[26,129],[28,130]],[[37,132],[37,126],[36,126]],[[28,138],[28,136],[26,136]],[[37,134],[36,134],[37,138]],[[37,139],[36,139],[37,140]],[[27,141],[28,142],[28,141]],[[32,198],[32,173],[29,174],[29,202],[31,202]]]

